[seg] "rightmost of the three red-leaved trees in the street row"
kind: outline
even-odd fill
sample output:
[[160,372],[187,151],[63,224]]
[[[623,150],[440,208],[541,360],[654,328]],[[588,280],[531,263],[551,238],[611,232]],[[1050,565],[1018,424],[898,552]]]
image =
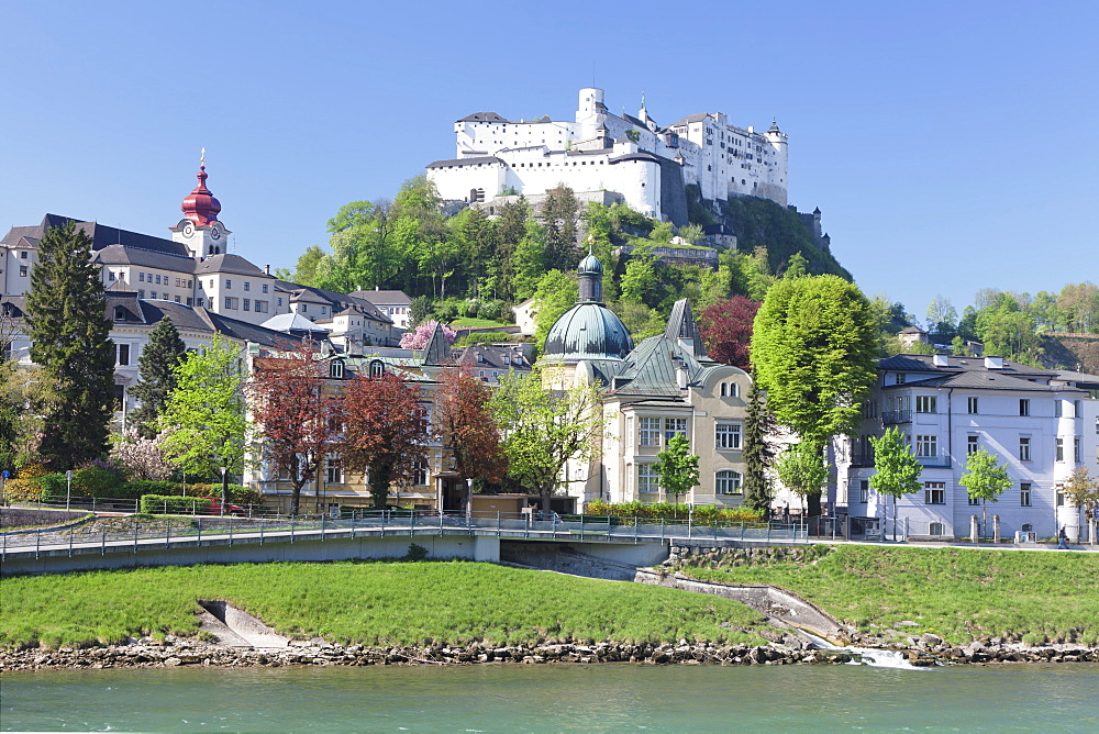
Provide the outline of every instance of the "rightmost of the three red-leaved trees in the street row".
[[454,471],[463,482],[463,507],[469,508],[469,479],[501,481],[508,459],[500,445],[500,429],[489,410],[488,386],[464,368],[443,372],[437,396],[437,431],[451,449]]

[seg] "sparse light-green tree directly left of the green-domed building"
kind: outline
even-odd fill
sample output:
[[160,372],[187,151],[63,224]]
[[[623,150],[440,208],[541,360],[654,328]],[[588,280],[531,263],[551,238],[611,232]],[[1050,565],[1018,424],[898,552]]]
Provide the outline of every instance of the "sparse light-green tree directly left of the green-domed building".
[[539,493],[543,512],[551,511],[565,464],[597,456],[603,430],[599,391],[587,385],[547,387],[554,379],[537,366],[526,375],[506,375],[490,401],[503,432],[508,474]]

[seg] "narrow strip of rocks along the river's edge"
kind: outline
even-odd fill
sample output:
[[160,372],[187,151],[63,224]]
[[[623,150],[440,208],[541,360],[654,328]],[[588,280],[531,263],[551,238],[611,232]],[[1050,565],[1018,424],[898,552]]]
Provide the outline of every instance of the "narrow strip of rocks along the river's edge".
[[[866,641],[864,641],[865,643]],[[917,667],[939,664],[993,663],[1099,663],[1099,649],[1072,645],[1017,648],[1011,645],[974,643],[953,647],[922,642],[911,648],[893,647]],[[31,648],[0,652],[0,671],[56,668],[153,668],[182,665],[219,667],[285,667],[324,665],[476,665],[485,663],[564,664],[642,663],[650,665],[836,665],[858,659],[842,649],[815,649],[784,645],[721,646],[689,644],[543,644],[496,647],[333,645],[320,640],[295,641],[287,647],[252,648],[212,645],[168,637],[142,640],[125,645],[91,648]]]

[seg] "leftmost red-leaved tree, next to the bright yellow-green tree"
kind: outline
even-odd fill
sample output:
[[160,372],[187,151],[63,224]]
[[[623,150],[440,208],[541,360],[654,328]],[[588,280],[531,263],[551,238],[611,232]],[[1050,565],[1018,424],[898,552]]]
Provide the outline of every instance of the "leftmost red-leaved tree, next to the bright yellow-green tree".
[[253,366],[248,394],[263,458],[277,477],[290,480],[290,514],[298,514],[301,488],[317,478],[325,455],[338,449],[343,401],[325,385],[309,345],[257,357]]

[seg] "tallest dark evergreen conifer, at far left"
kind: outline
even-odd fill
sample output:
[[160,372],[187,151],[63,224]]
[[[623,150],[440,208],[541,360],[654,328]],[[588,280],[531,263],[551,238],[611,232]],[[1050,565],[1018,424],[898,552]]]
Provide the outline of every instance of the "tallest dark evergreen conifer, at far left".
[[91,263],[91,237],[76,223],[52,227],[38,242],[26,296],[31,359],[53,381],[38,452],[54,470],[107,453],[114,402],[114,343],[104,315],[103,283]]

